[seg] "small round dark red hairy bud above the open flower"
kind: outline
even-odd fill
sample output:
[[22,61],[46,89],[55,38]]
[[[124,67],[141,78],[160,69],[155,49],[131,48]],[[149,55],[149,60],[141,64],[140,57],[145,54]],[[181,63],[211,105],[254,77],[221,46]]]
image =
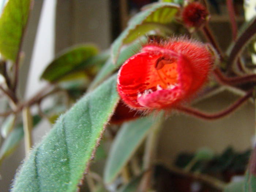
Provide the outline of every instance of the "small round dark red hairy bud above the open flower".
[[205,21],[208,11],[199,2],[188,4],[182,11],[182,19],[188,27],[200,27]]

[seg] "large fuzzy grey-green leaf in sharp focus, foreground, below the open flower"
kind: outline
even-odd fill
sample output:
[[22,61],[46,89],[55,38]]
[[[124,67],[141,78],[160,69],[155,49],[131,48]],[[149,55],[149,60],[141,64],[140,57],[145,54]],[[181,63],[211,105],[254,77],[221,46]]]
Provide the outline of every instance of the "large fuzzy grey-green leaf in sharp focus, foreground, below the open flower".
[[77,191],[118,100],[117,76],[84,95],[31,151],[12,192]]

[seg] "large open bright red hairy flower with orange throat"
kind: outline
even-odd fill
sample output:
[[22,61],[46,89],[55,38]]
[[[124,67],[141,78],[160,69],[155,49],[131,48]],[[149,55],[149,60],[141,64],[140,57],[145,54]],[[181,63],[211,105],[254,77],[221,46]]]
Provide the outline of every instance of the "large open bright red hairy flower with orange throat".
[[185,38],[145,45],[118,72],[117,90],[132,109],[166,109],[191,98],[213,63],[206,45]]

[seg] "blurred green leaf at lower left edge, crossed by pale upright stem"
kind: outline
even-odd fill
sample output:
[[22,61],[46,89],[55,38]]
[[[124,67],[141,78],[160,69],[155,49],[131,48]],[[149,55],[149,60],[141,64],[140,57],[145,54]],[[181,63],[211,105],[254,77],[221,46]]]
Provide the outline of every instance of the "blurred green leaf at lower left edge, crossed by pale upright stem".
[[[39,115],[33,116],[33,127],[35,127],[40,121],[41,117]],[[14,128],[4,140],[0,149],[0,164],[4,158],[6,158],[12,153],[12,151],[15,150],[23,136],[23,124],[21,123],[16,128]]]

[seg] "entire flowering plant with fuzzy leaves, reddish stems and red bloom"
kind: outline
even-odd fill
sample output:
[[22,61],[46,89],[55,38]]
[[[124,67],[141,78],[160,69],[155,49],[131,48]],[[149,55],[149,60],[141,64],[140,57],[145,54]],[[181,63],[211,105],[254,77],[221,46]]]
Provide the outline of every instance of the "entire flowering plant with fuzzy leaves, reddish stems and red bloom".
[[[0,18],[0,90],[8,99],[7,110],[0,114],[4,117],[0,162],[23,137],[27,155],[11,191],[195,191],[192,181],[211,186],[197,191],[256,191],[256,150],[246,173],[241,170],[245,177],[238,183],[224,182],[196,169],[202,162],[209,165],[221,161],[206,148],[198,150],[184,167],[168,168],[174,174],[173,188],[162,187],[158,182],[162,177],[157,176],[162,166],[162,159],[157,158],[158,136],[173,112],[214,120],[255,97],[255,64],[248,59],[255,50],[246,52],[245,48],[255,41],[256,18],[245,22],[238,35],[233,1],[226,3],[233,37],[227,53],[210,30],[206,1],[159,0],[147,4],[129,20],[110,53],[98,53],[94,45],[85,44],[59,54],[42,72],[47,86],[23,102],[17,94],[20,53],[33,0],[9,0]],[[223,89],[240,98],[217,113],[192,107]],[[46,97],[59,94],[66,99],[59,97],[52,107],[42,109]],[[33,105],[38,106],[36,114],[30,113]],[[58,110],[60,106],[64,109]],[[42,119],[56,122],[31,149],[32,128]],[[105,157],[103,148],[109,142]],[[99,159],[106,162],[103,173],[90,169]],[[219,164],[224,166],[225,162]],[[175,187],[175,179],[180,177],[189,180],[184,184],[188,189]]]

